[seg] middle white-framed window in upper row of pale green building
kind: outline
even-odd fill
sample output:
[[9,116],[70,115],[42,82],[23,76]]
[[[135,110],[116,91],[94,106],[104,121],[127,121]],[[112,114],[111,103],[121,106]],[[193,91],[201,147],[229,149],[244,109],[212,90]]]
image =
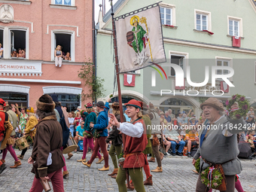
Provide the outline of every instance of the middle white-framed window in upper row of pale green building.
[[212,31],[211,12],[195,10],[195,28],[197,31]]

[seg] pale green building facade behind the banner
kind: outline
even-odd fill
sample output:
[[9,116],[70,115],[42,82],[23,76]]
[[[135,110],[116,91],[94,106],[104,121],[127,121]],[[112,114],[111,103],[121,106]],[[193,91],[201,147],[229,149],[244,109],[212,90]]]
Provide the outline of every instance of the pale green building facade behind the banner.
[[[114,5],[114,17],[154,3],[153,0],[119,0]],[[162,80],[157,73],[156,86],[151,87],[148,84],[151,84],[151,71],[154,69],[146,68],[133,73],[136,76],[135,87],[123,86],[124,75],[120,75],[124,98],[135,97],[147,103],[152,102],[163,111],[172,108],[175,114],[192,109],[199,116],[200,102],[213,96],[212,90],[224,90],[224,94],[218,96],[219,99],[225,101],[239,93],[247,96],[251,105],[256,106],[256,26],[251,23],[256,18],[254,0],[163,0],[160,3],[160,17],[166,62],[181,66],[184,70],[184,87],[175,87],[175,71],[168,66],[163,66],[167,80]],[[108,11],[104,17],[99,17],[97,31],[97,75],[108,79],[104,85],[107,91],[103,100],[113,92],[113,85],[109,84],[114,78],[111,28],[111,13]],[[191,87],[187,83],[187,66],[190,66],[190,79],[193,82],[204,81],[206,66],[209,66],[210,72],[212,66],[229,66],[234,70],[229,80],[235,87],[228,87],[221,79],[217,79],[215,87],[212,87],[211,75],[206,86]],[[217,75],[228,73],[227,70],[216,71]],[[160,90],[172,90],[172,93],[161,95]],[[173,90],[177,94],[174,95]],[[197,90],[199,94],[190,93],[192,96],[188,96],[187,90]],[[204,94],[203,90],[209,91]],[[186,93],[183,94],[183,91]],[[117,92],[114,92],[114,96],[117,96]]]

